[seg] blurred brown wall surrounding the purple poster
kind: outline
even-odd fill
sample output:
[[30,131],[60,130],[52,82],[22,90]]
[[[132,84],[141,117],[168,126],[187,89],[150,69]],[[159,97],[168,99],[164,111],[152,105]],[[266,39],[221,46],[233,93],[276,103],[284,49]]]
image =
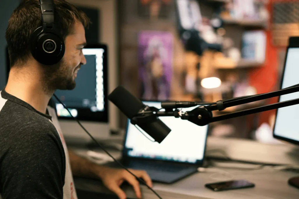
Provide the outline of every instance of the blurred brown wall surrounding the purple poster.
[[[165,18],[146,18],[140,16],[138,9],[139,0],[120,1],[120,81],[127,90],[140,98],[140,79],[138,77],[138,34],[141,30],[162,31],[173,36],[173,71],[171,80],[171,97],[180,100],[182,88],[180,82],[181,70],[183,70],[184,50],[175,26],[174,4],[170,8],[170,14]],[[139,10],[139,11],[138,11]],[[125,128],[126,117],[120,114],[120,127]]]

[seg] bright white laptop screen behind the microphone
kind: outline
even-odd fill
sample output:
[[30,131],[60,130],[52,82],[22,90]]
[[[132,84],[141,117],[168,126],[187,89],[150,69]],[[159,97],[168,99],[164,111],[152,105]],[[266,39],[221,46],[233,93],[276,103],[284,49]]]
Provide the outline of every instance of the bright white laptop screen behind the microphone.
[[[161,102],[143,101],[149,107],[161,108]],[[183,108],[190,111],[195,107]],[[159,117],[171,132],[161,144],[153,142],[146,132],[142,134],[128,119],[123,155],[154,160],[201,164],[205,153],[208,125],[197,126],[175,117]],[[147,136],[147,137],[145,137]]]

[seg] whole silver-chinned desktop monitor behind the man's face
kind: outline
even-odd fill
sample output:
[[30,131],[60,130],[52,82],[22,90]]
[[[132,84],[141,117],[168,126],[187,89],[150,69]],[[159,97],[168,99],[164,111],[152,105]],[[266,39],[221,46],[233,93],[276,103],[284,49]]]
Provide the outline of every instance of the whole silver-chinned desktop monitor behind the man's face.
[[[7,53],[7,78],[10,63]],[[69,108],[72,115],[97,139],[110,136],[108,121],[108,49],[104,44],[87,45],[83,49],[86,65],[81,66],[74,90],[56,90],[55,94]],[[91,138],[71,118],[54,97],[51,99],[66,141],[89,142]]]

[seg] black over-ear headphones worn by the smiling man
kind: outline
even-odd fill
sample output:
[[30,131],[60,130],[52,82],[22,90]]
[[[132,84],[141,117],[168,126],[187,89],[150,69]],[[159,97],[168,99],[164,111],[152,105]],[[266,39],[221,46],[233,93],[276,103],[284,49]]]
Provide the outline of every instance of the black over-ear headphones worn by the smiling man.
[[57,64],[65,52],[64,41],[55,29],[54,0],[39,0],[42,9],[42,24],[30,36],[32,56],[41,64]]

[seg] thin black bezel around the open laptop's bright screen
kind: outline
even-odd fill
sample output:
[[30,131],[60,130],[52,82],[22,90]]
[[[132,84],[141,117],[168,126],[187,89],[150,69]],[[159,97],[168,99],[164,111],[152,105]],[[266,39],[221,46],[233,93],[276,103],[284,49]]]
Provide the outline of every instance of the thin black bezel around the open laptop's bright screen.
[[[163,102],[163,101],[155,101],[155,100],[141,100],[142,102]],[[174,161],[174,160],[164,160],[164,159],[155,159],[155,158],[145,158],[145,157],[132,157],[129,156],[126,153],[126,140],[127,140],[127,134],[128,134],[128,128],[129,128],[129,119],[126,121],[126,130],[124,133],[124,139],[123,139],[123,149],[122,149],[122,159],[124,161],[128,160],[129,158],[133,159],[143,159],[143,160],[149,160],[149,161],[158,161],[158,162],[169,162],[169,163],[179,163],[179,164],[184,164],[184,165],[198,165],[202,166],[205,160],[205,153],[206,153],[206,147],[207,147],[207,139],[208,139],[208,132],[210,129],[210,125],[208,125],[207,131],[206,131],[206,138],[205,138],[205,146],[204,146],[204,154],[202,160],[198,160],[195,163],[191,162],[181,162],[181,161]]]

